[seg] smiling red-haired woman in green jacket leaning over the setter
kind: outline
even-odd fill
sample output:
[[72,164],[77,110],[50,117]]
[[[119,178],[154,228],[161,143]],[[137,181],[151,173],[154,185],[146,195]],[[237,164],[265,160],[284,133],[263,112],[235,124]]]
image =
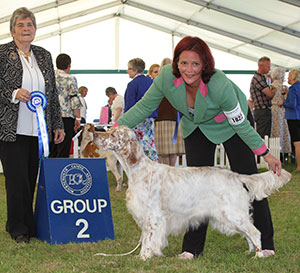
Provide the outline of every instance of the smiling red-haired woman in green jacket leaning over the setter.
[[[233,171],[257,173],[256,154],[263,156],[269,168],[280,175],[280,161],[269,153],[249,122],[252,117],[246,96],[223,72],[215,69],[210,49],[201,39],[188,36],[178,43],[172,65],[163,68],[143,99],[116,125],[133,128],[164,97],[182,115],[180,125],[188,166],[213,166],[216,145],[223,143]],[[252,205],[254,225],[262,234],[264,255],[274,255],[268,201],[254,201]],[[186,232],[181,258],[193,259],[203,252],[207,226],[205,223]]]

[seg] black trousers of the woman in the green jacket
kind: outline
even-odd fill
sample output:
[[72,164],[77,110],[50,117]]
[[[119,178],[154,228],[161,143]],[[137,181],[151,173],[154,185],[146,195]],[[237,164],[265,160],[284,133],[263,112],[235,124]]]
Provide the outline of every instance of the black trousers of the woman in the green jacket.
[[[204,134],[196,129],[184,139],[188,166],[213,166],[216,145],[210,142]],[[251,149],[234,135],[223,143],[232,171],[241,174],[257,173],[255,157]],[[268,200],[254,201],[253,220],[261,232],[262,249],[274,249],[273,224]],[[203,252],[208,223],[197,229],[189,229],[184,235],[182,251],[188,251],[195,256]]]

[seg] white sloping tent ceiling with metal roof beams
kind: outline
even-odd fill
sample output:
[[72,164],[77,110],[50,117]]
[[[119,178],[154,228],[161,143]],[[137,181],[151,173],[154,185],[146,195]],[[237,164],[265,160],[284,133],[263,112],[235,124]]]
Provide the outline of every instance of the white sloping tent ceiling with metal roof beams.
[[[3,1],[3,0],[2,0]],[[199,36],[211,47],[256,61],[300,67],[299,0],[31,0],[38,22],[36,40],[114,17],[174,36]],[[9,19],[17,6],[0,11],[0,43],[10,38]]]

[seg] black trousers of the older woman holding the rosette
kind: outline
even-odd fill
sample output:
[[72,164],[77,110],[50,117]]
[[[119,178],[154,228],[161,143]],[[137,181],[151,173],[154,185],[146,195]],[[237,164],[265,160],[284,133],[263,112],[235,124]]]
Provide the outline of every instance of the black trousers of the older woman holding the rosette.
[[12,238],[35,235],[33,195],[38,174],[38,138],[17,135],[15,142],[0,141],[0,159],[6,186],[6,230]]

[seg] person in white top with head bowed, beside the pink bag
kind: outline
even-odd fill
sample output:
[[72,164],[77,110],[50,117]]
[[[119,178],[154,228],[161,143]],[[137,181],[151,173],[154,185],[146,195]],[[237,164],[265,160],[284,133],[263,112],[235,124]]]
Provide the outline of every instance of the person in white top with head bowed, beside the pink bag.
[[106,96],[112,101],[111,104],[111,123],[114,124],[124,113],[124,97],[119,95],[115,88],[107,87]]

